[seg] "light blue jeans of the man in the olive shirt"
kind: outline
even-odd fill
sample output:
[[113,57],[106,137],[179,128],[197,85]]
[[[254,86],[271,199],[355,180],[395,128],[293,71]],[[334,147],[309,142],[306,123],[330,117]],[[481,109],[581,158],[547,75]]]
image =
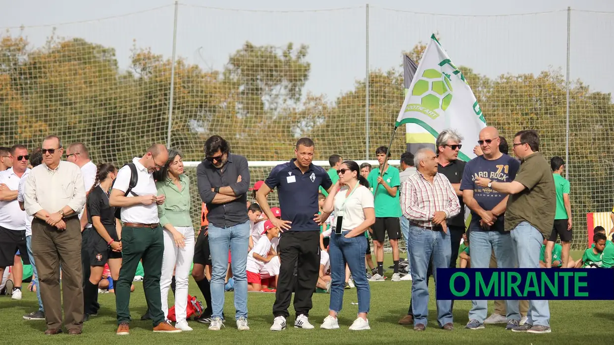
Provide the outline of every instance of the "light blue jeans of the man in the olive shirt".
[[[518,267],[539,268],[539,256],[543,242],[542,233],[528,222],[520,222],[511,230],[511,239],[518,257]],[[548,300],[529,300],[527,324],[550,327]]]

